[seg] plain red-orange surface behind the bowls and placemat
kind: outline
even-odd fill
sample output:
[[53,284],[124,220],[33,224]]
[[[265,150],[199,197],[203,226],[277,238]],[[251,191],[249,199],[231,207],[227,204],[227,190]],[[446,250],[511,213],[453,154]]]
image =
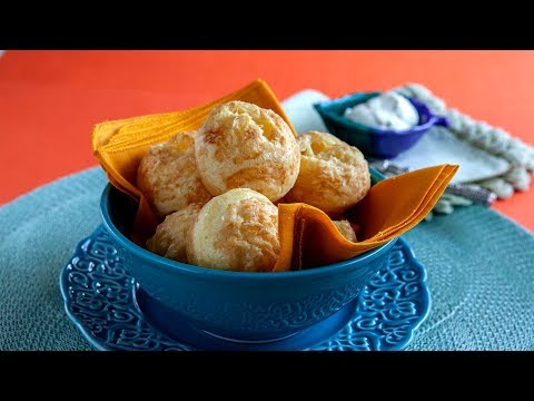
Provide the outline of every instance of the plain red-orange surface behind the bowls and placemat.
[[[179,110],[260,77],[284,99],[421,82],[534,143],[534,51],[17,51],[0,58],[0,204],[96,166],[96,123]],[[534,190],[495,208],[534,231]]]

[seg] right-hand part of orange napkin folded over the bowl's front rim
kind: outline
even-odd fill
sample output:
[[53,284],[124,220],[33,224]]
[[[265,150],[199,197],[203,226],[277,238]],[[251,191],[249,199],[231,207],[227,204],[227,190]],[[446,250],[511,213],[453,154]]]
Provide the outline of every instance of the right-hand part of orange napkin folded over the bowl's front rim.
[[434,207],[458,166],[441,165],[384,179],[373,185],[345,217],[360,227],[358,242],[339,234],[323,211],[306,205],[278,205],[280,256],[273,271],[300,270],[346,261],[415,227]]

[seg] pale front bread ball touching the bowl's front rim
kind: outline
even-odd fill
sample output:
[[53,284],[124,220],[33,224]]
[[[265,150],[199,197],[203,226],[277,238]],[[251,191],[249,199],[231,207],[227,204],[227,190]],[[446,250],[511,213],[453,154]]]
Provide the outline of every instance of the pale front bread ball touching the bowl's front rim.
[[240,272],[271,271],[279,252],[278,208],[248,188],[211,198],[187,244],[190,264]]

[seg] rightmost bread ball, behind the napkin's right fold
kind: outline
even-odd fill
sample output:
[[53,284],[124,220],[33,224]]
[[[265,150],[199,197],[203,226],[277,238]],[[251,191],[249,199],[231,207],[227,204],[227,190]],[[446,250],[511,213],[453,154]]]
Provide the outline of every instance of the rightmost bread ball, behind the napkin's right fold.
[[297,137],[300,173],[286,202],[303,202],[335,216],[369,190],[370,176],[362,151],[332,134],[309,131]]

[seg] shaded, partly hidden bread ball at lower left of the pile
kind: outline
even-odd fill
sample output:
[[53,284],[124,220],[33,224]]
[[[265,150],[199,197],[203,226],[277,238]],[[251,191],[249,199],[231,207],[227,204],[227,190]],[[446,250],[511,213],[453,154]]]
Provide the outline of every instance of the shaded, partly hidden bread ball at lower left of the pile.
[[147,241],[148,251],[174,261],[188,263],[187,238],[201,208],[201,204],[190,204],[165,217],[154,236]]

